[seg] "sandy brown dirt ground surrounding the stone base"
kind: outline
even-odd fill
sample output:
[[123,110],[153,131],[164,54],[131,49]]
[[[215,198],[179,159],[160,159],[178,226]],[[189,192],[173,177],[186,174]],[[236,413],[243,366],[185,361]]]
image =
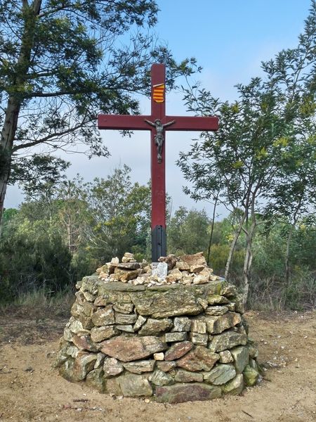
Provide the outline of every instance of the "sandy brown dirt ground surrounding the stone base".
[[0,422],[316,421],[316,312],[247,312],[265,367],[260,385],[210,402],[110,397],[51,368],[67,319],[0,315]]

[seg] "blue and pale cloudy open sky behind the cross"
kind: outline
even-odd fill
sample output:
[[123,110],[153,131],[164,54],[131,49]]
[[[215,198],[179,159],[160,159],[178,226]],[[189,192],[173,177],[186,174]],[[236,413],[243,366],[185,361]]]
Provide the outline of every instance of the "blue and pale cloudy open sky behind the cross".
[[[237,99],[235,84],[247,84],[251,77],[261,76],[261,61],[273,58],[282,49],[296,46],[303,31],[310,0],[158,0],[160,8],[155,32],[168,44],[176,60],[195,57],[202,66],[190,83],[221,100]],[[142,98],[141,113],[150,114],[150,99]],[[167,94],[166,114],[189,115],[182,96]],[[135,132],[131,138],[114,131],[102,131],[110,158],[85,155],[63,155],[72,162],[67,177],[77,173],[86,181],[107,177],[119,165],[129,165],[133,181],[146,184],[150,179],[150,132]],[[189,151],[197,132],[166,134],[166,191],[172,198],[173,211],[180,205],[195,207],[211,214],[208,203],[195,203],[185,196],[187,182],[176,166],[180,151]],[[6,204],[18,207],[22,195],[16,186],[8,188]],[[220,210],[225,217],[225,210]]]

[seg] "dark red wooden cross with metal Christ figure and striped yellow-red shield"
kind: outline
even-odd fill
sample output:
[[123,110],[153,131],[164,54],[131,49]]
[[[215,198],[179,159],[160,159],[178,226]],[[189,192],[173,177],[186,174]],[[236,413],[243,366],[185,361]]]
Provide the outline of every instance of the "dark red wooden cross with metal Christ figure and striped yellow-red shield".
[[152,181],[152,262],[166,256],[166,163],[164,137],[167,130],[216,131],[218,117],[166,115],[166,68],[151,69],[151,115],[99,115],[99,129],[150,130]]

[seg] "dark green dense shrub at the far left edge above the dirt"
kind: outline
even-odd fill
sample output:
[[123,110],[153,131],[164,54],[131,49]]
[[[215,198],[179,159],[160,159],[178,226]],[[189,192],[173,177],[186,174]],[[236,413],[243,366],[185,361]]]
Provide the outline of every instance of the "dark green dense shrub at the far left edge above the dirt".
[[71,255],[62,238],[38,229],[18,218],[11,221],[10,230],[6,227],[0,247],[1,300],[37,288],[56,292],[69,283]]

